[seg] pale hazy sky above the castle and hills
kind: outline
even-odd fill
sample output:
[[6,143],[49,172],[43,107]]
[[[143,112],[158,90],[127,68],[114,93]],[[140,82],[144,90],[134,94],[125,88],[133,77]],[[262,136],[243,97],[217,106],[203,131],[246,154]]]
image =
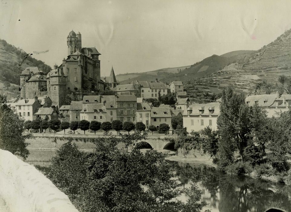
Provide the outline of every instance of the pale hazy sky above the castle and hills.
[[101,53],[101,76],[194,64],[211,55],[258,50],[291,28],[286,1],[0,0],[0,38],[53,67],[67,36]]

